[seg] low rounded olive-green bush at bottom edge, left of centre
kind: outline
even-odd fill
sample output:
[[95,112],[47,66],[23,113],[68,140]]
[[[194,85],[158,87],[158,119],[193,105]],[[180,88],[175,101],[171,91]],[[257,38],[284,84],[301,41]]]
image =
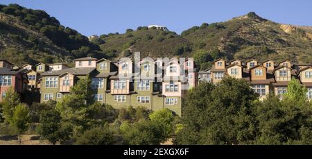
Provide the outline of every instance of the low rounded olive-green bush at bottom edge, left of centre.
[[103,127],[91,128],[77,137],[75,144],[83,145],[111,145],[114,144],[115,137],[108,124]]

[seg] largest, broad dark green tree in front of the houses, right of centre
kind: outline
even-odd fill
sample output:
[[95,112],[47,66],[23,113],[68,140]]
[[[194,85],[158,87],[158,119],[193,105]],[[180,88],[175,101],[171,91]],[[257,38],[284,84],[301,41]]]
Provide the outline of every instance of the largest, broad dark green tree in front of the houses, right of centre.
[[259,97],[243,79],[223,78],[189,91],[175,144],[245,144],[257,133],[252,103]]

